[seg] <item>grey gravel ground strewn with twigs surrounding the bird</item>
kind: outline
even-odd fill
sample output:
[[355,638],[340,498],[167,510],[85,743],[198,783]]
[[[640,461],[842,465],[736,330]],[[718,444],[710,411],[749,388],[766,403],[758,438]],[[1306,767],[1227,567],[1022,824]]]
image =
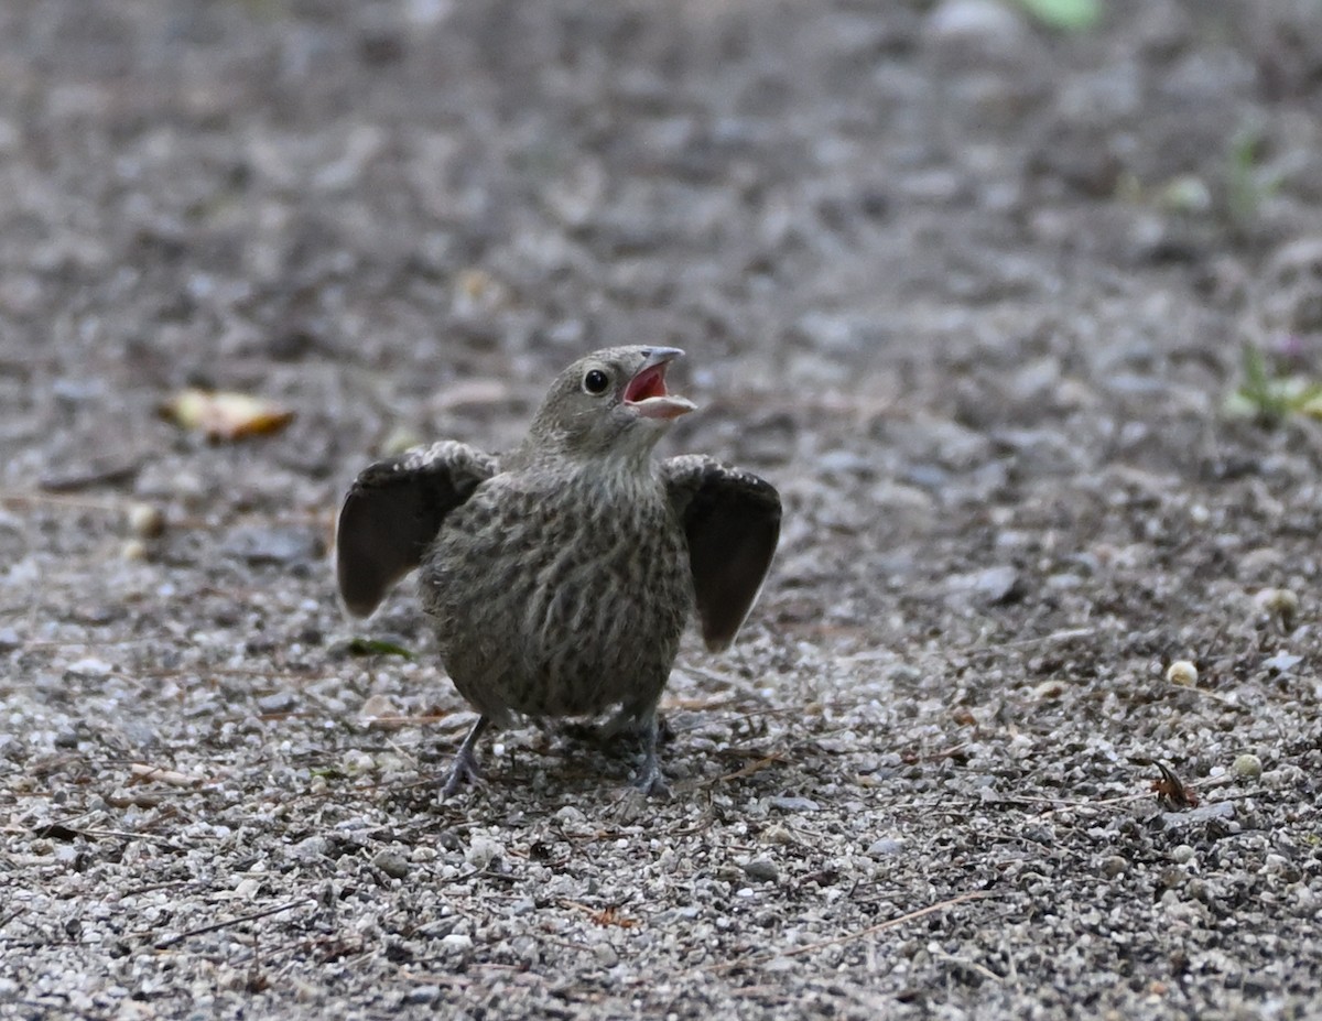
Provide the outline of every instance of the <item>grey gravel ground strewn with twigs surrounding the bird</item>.
[[[1318,1016],[1322,434],[1223,406],[1322,362],[1319,108],[1313,0],[8,0],[0,1016]],[[642,341],[763,599],[672,800],[440,803],[337,501]]]

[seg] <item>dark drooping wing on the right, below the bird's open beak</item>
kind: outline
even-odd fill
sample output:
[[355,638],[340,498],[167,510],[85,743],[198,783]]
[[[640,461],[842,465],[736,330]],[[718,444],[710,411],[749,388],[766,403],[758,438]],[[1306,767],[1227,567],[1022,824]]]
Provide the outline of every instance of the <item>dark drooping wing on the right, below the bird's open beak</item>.
[[780,538],[780,493],[752,472],[686,455],[661,463],[689,540],[689,566],[710,649],[735,640]]

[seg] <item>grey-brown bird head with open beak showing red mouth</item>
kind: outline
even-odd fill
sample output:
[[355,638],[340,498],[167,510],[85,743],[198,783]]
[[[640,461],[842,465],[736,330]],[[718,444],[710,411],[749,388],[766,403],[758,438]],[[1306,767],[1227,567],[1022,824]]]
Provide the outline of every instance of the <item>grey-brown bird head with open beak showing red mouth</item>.
[[607,348],[579,358],[551,384],[529,440],[575,455],[646,455],[694,403],[665,386],[678,348]]

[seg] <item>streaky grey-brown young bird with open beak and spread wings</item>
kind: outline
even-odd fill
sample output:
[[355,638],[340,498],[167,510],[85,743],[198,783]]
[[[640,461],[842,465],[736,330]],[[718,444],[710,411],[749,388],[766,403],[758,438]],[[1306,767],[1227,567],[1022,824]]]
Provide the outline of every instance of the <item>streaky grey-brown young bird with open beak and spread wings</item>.
[[595,718],[639,737],[635,787],[665,795],[657,705],[697,616],[738,635],[780,536],[776,488],[706,455],[653,450],[695,405],[666,389],[683,352],[615,347],[550,385],[526,438],[490,455],[440,440],[377,462],[336,529],[345,608],[369,616],[418,570],[440,660],[477,712],[442,797],[480,779],[477,743],[520,719]]

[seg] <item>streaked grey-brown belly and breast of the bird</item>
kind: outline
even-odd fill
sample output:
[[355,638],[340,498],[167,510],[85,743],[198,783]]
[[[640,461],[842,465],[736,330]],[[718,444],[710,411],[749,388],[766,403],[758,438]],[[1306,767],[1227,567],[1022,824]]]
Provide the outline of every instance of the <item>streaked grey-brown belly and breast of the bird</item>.
[[479,503],[447,522],[423,571],[446,669],[500,723],[653,705],[693,607],[662,499],[555,496]]

